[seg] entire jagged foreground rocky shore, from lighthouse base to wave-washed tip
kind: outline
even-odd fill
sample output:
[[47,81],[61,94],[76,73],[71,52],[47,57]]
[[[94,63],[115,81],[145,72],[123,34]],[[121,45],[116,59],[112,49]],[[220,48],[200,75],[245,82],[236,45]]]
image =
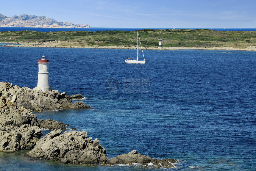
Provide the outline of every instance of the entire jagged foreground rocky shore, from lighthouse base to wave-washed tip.
[[[27,156],[67,164],[133,164],[144,167],[170,168],[175,159],[152,159],[136,150],[107,160],[106,149],[98,139],[92,140],[85,131],[65,131],[66,124],[52,119],[37,119],[32,111],[55,109],[88,109],[82,95],[67,95],[57,90],[42,92],[28,87],[0,82],[0,151],[30,150]],[[41,129],[53,130],[42,137]]]

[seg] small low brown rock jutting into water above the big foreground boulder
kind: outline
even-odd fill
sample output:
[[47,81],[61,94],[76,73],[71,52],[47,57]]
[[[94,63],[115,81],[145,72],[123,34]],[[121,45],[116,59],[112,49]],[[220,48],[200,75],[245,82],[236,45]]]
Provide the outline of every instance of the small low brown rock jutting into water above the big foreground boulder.
[[66,130],[66,124],[63,122],[57,122],[53,119],[38,119],[38,126],[40,128],[46,128],[49,130],[57,130],[57,129],[61,129],[61,130]]

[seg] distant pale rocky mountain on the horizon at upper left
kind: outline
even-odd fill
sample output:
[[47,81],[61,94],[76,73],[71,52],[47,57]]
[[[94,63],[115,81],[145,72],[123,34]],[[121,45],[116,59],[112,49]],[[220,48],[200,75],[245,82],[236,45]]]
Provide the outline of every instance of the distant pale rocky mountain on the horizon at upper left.
[[52,28],[90,28],[87,24],[74,24],[70,22],[58,22],[45,16],[22,14],[7,17],[0,14],[0,27],[52,27]]

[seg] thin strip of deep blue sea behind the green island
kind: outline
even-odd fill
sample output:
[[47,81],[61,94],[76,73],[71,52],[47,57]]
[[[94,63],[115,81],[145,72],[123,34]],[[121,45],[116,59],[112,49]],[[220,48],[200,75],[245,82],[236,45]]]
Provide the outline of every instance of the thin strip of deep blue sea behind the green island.
[[[135,31],[142,29],[174,29],[174,28],[108,28],[108,27],[92,27],[92,28],[35,28],[35,27],[0,27],[0,32],[4,31],[22,31],[22,30],[33,30],[37,32],[58,32],[58,31],[88,31],[88,32],[96,32],[96,31],[106,31],[106,30],[125,30],[125,31]],[[176,29],[207,29],[207,28],[176,28]],[[210,30],[216,31],[256,31],[256,28],[246,29],[246,28],[208,28]]]

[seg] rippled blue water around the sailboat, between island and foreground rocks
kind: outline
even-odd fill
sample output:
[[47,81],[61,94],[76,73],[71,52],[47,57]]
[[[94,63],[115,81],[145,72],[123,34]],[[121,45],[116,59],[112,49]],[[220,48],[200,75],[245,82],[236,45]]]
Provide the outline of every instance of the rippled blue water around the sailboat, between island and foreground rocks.
[[[36,87],[38,59],[49,59],[52,89],[80,93],[92,109],[35,113],[100,140],[108,158],[134,149],[175,158],[168,170],[255,170],[256,52],[0,47],[0,81]],[[106,80],[119,90],[108,92]],[[113,79],[112,79],[113,80]],[[115,90],[115,89],[113,89]],[[44,131],[46,134],[47,131]],[[0,153],[0,170],[154,170],[74,166]],[[162,170],[162,169],[160,169]]]

